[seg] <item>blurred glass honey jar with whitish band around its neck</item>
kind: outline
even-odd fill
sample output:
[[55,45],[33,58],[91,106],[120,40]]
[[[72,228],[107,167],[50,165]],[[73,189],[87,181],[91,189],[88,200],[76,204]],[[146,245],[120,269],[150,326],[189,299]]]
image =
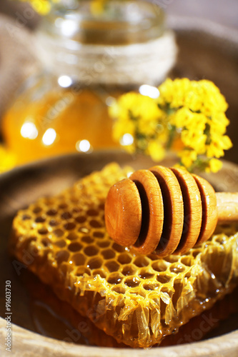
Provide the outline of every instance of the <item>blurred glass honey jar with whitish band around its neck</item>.
[[147,1],[60,1],[36,32],[41,68],[2,121],[6,145],[24,164],[74,151],[116,148],[108,107],[131,91],[153,93],[177,47],[164,12]]

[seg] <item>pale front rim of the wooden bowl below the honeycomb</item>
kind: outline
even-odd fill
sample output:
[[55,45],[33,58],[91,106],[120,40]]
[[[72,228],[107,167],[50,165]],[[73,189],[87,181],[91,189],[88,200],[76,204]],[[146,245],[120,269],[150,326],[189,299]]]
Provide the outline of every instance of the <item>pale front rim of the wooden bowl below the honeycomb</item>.
[[[4,336],[5,323],[0,320],[0,337]],[[36,335],[31,331],[14,326],[14,348],[11,356],[14,357],[237,357],[238,332],[208,341],[185,344],[182,346],[152,348],[149,350],[128,350],[124,348],[95,348],[72,345],[63,341],[54,341],[51,338]],[[0,346],[1,356],[9,356]]]

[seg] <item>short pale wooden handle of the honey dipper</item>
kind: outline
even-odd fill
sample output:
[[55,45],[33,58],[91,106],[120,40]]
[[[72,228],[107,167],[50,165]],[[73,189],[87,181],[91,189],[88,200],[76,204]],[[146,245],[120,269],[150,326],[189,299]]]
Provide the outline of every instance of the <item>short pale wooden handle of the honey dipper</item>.
[[238,193],[218,192],[218,221],[238,221]]

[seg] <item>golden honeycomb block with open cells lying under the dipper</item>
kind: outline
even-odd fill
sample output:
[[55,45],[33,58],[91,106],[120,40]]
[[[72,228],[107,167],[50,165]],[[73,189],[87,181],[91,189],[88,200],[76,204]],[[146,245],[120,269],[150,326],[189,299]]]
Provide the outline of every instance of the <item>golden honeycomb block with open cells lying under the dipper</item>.
[[11,251],[57,296],[118,343],[161,343],[238,283],[238,233],[228,227],[183,256],[142,256],[106,233],[109,187],[132,169],[109,164],[13,223]]

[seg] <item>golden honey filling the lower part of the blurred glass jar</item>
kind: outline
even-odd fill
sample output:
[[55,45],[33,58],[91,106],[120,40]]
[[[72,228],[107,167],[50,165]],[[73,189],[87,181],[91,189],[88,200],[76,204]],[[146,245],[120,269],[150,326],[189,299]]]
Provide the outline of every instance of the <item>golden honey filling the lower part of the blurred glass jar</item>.
[[25,94],[7,111],[4,139],[16,153],[16,164],[57,154],[116,148],[112,120],[100,90],[52,91],[38,101]]

